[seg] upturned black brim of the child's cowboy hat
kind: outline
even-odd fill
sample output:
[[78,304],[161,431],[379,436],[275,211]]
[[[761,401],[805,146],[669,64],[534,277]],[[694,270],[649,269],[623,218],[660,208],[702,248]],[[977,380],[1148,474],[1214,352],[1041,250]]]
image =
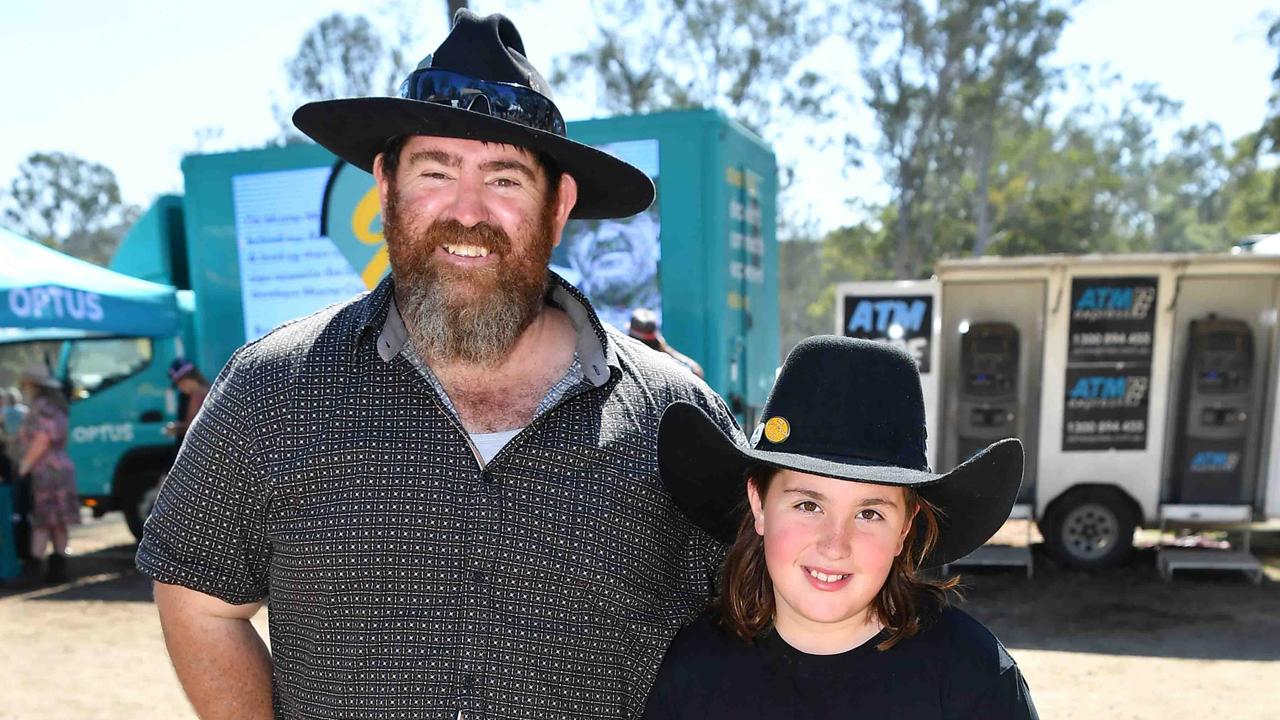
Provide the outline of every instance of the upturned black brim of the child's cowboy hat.
[[936,568],[969,555],[1009,519],[1023,480],[1023,446],[992,443],[950,473],[742,447],[696,405],[676,402],[658,427],[658,469],[681,512],[723,543],[733,541],[746,497],[745,474],[765,465],[840,480],[915,489],[940,511],[938,542],[922,561]]

